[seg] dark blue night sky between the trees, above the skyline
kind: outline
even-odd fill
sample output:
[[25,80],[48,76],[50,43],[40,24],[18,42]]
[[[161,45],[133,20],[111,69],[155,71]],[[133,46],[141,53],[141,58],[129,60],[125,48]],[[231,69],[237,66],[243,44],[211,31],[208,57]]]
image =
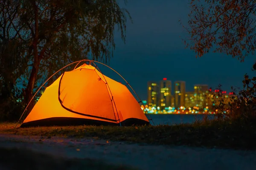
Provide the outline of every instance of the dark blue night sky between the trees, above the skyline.
[[[245,73],[255,75],[251,71],[255,57],[247,57],[242,63],[219,53],[196,59],[190,49],[185,49],[181,37],[186,32],[178,20],[187,23],[188,0],[129,0],[127,6],[120,6],[128,9],[133,23],[127,23],[126,44],[116,34],[116,50],[109,65],[128,80],[142,99],[147,98],[147,82],[163,77],[172,85],[176,80],[186,81],[186,91],[193,91],[194,84],[213,88],[222,84],[224,90],[230,91],[231,86],[241,87]],[[112,72],[105,74],[116,79]]]

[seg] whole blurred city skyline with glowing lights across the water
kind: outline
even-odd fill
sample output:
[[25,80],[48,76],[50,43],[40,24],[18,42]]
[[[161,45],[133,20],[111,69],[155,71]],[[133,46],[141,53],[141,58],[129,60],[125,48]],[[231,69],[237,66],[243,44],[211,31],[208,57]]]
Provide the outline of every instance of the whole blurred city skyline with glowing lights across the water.
[[[143,101],[142,110],[152,114],[215,114],[215,106],[223,99],[224,104],[230,102],[230,95],[220,89],[212,90],[208,85],[194,85],[193,91],[185,91],[186,83],[176,81],[174,91],[172,82],[163,78],[160,82],[148,82],[148,101]],[[146,109],[148,108],[148,109]],[[176,108],[176,109],[175,109]],[[224,113],[224,111],[223,111]]]

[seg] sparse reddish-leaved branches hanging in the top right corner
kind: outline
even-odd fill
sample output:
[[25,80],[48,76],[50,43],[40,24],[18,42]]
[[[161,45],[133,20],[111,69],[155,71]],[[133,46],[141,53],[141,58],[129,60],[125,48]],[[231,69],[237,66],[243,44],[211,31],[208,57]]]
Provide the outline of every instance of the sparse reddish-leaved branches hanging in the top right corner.
[[256,48],[256,0],[190,0],[186,47],[197,57],[223,52],[241,61]]

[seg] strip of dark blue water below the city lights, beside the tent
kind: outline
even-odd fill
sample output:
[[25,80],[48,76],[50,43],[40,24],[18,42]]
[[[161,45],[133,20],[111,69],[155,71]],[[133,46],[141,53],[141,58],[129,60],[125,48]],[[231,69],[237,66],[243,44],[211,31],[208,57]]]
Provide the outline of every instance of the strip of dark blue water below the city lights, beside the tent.
[[[149,116],[146,115],[149,119]],[[203,114],[150,114],[155,125],[173,125],[180,123],[193,123],[203,119]],[[210,117],[214,115],[209,115]],[[149,121],[152,124],[152,121]]]

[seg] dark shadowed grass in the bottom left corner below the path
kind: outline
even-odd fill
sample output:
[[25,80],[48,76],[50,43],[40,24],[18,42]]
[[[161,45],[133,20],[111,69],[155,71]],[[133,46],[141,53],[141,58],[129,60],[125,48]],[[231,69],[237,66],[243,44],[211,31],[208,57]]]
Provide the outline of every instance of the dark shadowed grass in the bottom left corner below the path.
[[12,170],[135,170],[93,159],[66,159],[25,149],[0,148],[0,153],[0,168]]

